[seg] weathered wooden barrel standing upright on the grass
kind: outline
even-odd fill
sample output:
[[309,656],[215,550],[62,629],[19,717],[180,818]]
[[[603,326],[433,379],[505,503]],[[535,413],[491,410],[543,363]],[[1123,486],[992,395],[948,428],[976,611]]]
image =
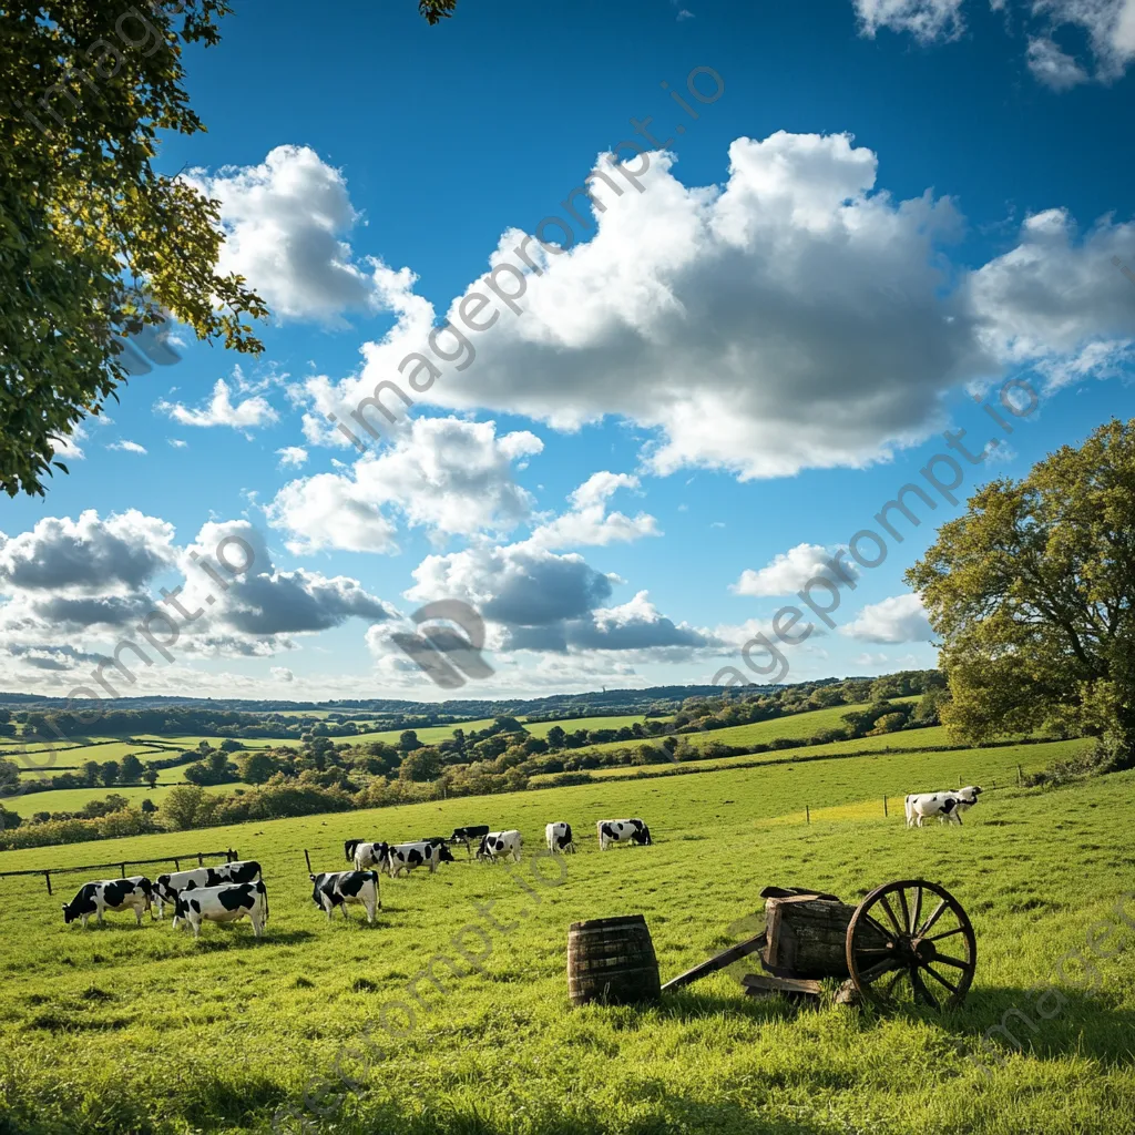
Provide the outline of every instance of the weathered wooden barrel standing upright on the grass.
[[571,924],[568,994],[572,1004],[634,1004],[661,999],[658,959],[642,915]]

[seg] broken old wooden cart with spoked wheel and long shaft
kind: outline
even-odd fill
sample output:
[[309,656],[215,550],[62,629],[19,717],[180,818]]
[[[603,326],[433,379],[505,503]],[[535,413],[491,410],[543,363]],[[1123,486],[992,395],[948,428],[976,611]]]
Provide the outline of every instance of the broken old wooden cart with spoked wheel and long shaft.
[[977,943],[958,900],[939,883],[899,880],[858,906],[804,888],[768,886],[765,928],[662,986],[670,992],[751,955],[766,975],[742,978],[755,997],[819,995],[819,980],[846,978],[838,1000],[881,1006],[960,1004],[974,980]]

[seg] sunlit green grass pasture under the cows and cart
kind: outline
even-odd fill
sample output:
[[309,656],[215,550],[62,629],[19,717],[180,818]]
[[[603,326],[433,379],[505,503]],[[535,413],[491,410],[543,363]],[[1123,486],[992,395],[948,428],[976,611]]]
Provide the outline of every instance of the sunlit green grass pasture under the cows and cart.
[[[1135,898],[1124,892],[1135,850],[1123,817],[1135,774],[987,792],[961,829],[908,831],[893,813],[776,823],[806,801],[839,808],[959,774],[982,783],[999,751],[882,754],[8,852],[0,872],[230,844],[263,864],[271,917],[260,943],[247,923],[208,925],[197,944],[168,922],[138,930],[129,916],[84,932],[64,926],[60,896],[39,881],[0,881],[0,1130],[267,1133],[288,1108],[305,1130],[336,1135],[1133,1130]],[[599,854],[595,821],[633,815],[655,846]],[[552,819],[569,821],[580,843],[562,864],[532,855]],[[435,877],[384,881],[375,927],[358,908],[328,925],[311,902],[304,847],[317,869],[336,869],[344,839],[477,822],[520,827],[526,861],[512,871],[459,851]],[[856,899],[919,875],[944,883],[977,933],[977,977],[953,1012],[800,1011],[750,1001],[728,974],[656,1008],[569,1010],[573,920],[644,913],[666,978],[751,932],[765,884]],[[57,890],[69,898],[81,881],[57,876]],[[1102,919],[1118,928],[1101,942]],[[1069,961],[1077,948],[1088,978]],[[453,965],[434,962],[436,983],[419,977],[436,957]],[[1022,1051],[1002,1037],[990,1056],[982,1035],[1007,1015]],[[390,1040],[380,1022],[403,1035]],[[368,1027],[378,1051],[361,1044]],[[301,1128],[281,1118],[276,1129]]]

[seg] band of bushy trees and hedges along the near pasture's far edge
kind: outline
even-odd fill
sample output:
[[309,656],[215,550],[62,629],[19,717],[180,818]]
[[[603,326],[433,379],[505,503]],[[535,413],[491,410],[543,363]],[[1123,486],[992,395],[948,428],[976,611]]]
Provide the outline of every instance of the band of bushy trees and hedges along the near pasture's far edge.
[[[892,700],[911,697],[918,700]],[[572,732],[553,725],[543,738],[532,735],[515,717],[499,716],[480,730],[466,732],[457,726],[452,738],[432,746],[422,743],[413,729],[404,730],[394,745],[336,745],[316,730],[305,732],[296,747],[247,750],[232,738],[218,748],[202,741],[196,750],[145,764],[131,757],[117,765],[89,762],[75,783],[68,773],[39,782],[43,791],[109,788],[133,783],[141,774],[153,787],[159,768],[186,766],[186,783],[173,787],[158,806],[146,799],[134,807],[112,793],[76,813],[36,813],[23,824],[14,817],[15,823],[6,823],[0,833],[0,849],[515,792],[527,789],[538,774],[556,774],[558,783],[571,783],[573,777],[587,780],[590,768],[680,764],[802,748],[938,724],[947,698],[941,675],[910,671],[886,679],[804,683],[747,696],[728,691],[688,699],[670,722],[648,720],[617,729]],[[863,708],[849,709],[841,715],[839,726],[807,738],[730,746],[713,740],[693,745],[689,735],[850,705]],[[627,743],[595,748],[620,741]],[[18,775],[15,765],[0,760],[0,783],[14,775]],[[207,791],[236,783],[241,787],[229,792]]]

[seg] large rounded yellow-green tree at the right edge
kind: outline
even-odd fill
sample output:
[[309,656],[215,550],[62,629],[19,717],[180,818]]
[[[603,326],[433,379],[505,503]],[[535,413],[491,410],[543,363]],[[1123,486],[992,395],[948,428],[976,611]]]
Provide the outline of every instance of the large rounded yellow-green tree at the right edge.
[[1135,420],[982,488],[907,582],[943,641],[951,732],[1075,729],[1135,765]]

